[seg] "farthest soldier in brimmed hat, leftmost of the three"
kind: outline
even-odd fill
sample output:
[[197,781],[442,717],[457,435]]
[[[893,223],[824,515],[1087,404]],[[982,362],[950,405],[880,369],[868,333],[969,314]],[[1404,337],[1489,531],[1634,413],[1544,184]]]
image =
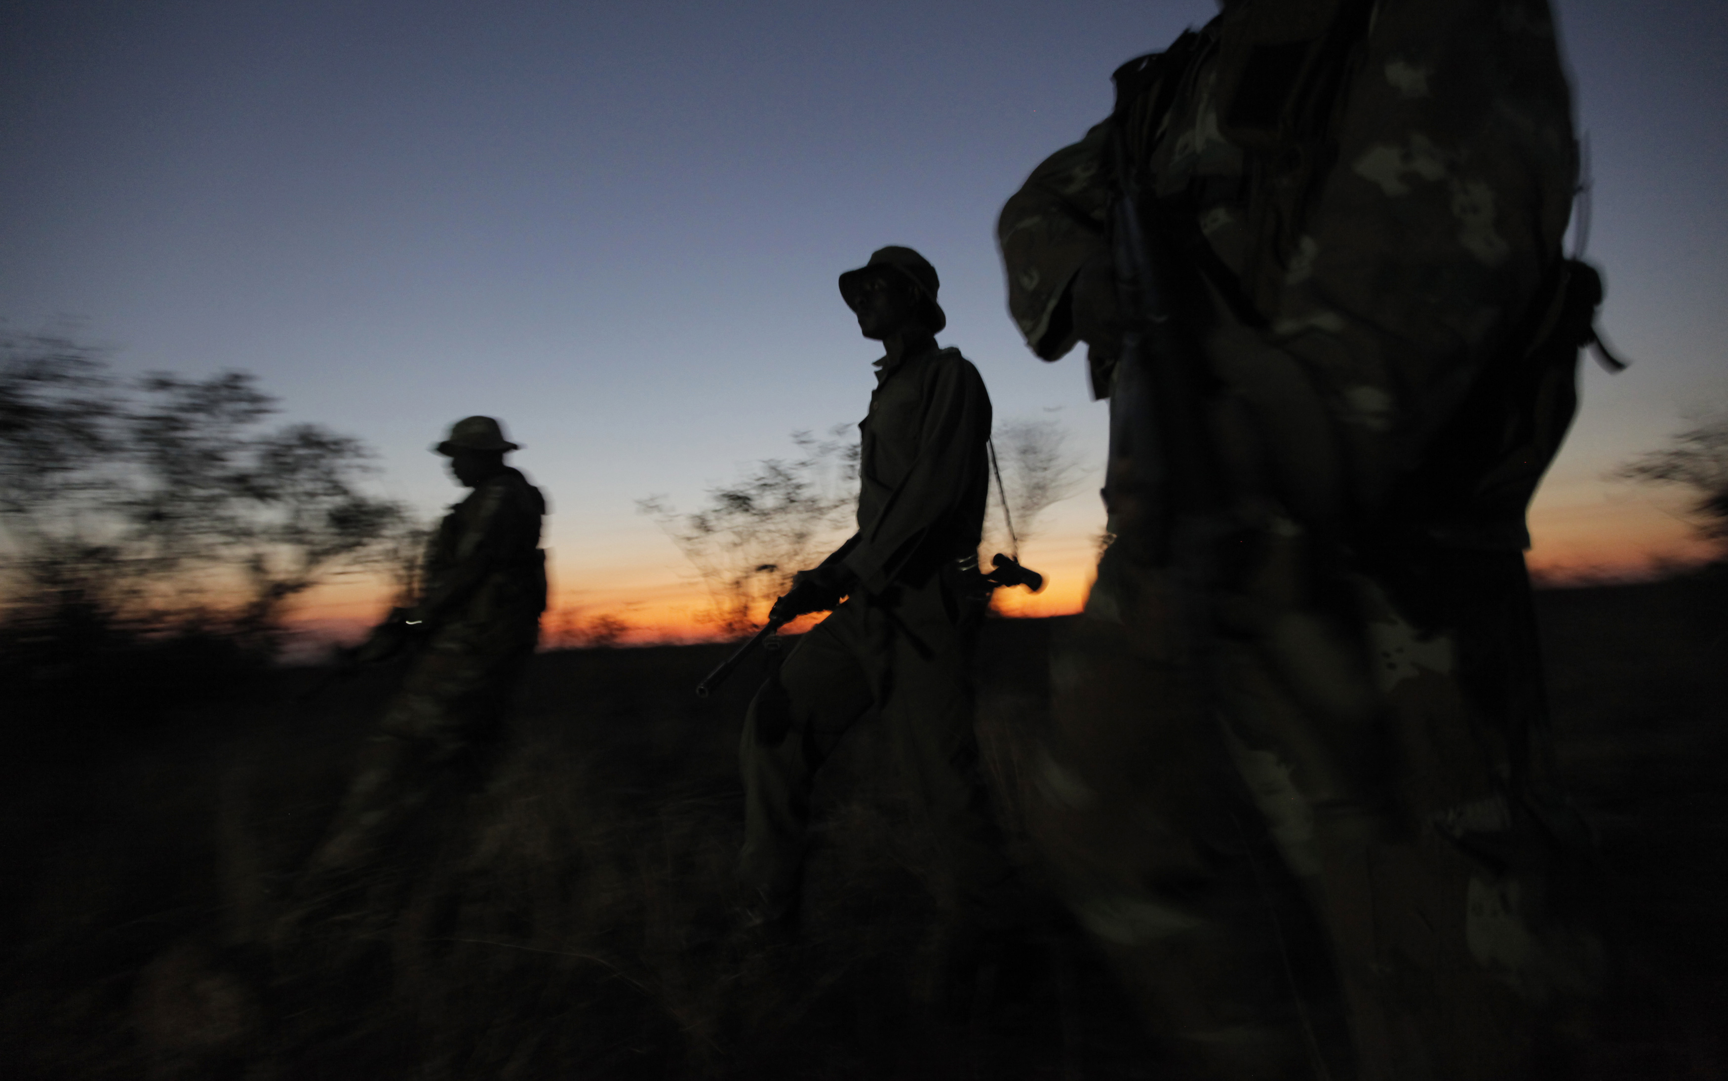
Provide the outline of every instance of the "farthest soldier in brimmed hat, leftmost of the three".
[[546,499],[505,465],[517,444],[491,416],[470,416],[434,449],[449,458],[456,484],[473,490],[427,544],[420,599],[392,611],[353,658],[413,651],[302,891],[368,863],[416,812],[484,781],[539,637]]

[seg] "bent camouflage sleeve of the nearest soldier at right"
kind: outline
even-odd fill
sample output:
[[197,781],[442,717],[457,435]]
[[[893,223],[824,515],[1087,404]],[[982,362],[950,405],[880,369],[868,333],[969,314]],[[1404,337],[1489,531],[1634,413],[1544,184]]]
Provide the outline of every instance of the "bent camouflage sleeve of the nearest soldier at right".
[[1007,311],[1026,345],[1054,361],[1075,345],[1068,285],[1106,249],[1109,121],[1044,159],[995,223],[1007,273]]

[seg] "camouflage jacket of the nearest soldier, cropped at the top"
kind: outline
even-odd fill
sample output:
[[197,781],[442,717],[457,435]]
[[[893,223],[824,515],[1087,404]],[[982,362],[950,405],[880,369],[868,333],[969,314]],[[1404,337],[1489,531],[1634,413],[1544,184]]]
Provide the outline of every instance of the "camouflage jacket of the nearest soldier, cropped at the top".
[[[1552,19],[1540,2],[1377,3],[1320,178],[1222,136],[1225,19],[1199,35],[1159,131],[1123,135],[1263,318],[1253,333],[1218,318],[1211,352],[1270,440],[1263,458],[1301,473],[1286,497],[1365,513],[1420,461],[1559,261],[1576,149]],[[1108,250],[1116,128],[1051,155],[1001,214],[1009,311],[1045,359],[1073,347],[1059,309]],[[1298,183],[1305,199],[1280,190]]]

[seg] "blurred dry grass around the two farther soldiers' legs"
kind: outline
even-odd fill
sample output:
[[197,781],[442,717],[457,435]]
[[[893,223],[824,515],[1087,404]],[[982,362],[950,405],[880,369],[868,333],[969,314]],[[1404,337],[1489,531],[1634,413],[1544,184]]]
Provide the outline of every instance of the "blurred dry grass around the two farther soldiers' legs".
[[[130,748],[60,748],[14,793],[7,844],[28,888],[12,898],[0,1067],[1059,1078],[1083,1052],[1094,1076],[1140,1076],[1144,1048],[1096,965],[1070,991],[1096,1000],[1085,1048],[1073,1024],[1064,1045],[1037,974],[987,1022],[937,1019],[933,850],[869,720],[824,775],[798,943],[734,929],[736,739],[753,680],[691,694],[722,653],[541,656],[491,784],[282,941],[287,872],[328,820],[385,679],[299,706],[313,675],[285,673],[256,703],[207,706]],[[992,708],[1025,696],[999,689]],[[1014,741],[992,732],[990,762],[1011,774]]]

